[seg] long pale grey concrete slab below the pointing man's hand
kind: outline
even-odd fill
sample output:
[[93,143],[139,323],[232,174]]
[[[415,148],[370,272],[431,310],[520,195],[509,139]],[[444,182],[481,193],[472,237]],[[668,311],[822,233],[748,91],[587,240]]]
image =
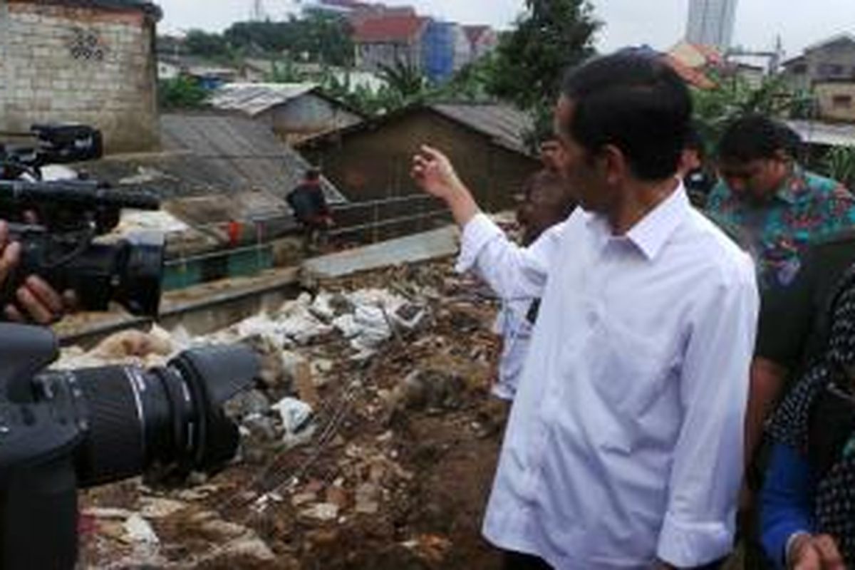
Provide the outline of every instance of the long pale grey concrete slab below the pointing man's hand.
[[315,257],[304,261],[302,280],[304,283],[312,283],[380,267],[453,256],[457,253],[459,235],[456,226],[447,226],[433,232],[417,233],[356,250]]

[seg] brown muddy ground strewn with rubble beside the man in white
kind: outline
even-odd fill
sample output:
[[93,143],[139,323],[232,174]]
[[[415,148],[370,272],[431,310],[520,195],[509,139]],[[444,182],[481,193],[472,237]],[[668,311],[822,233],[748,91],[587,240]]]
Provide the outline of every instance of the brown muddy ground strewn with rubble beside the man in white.
[[316,400],[304,444],[253,434],[209,479],[82,491],[83,567],[499,567],[479,532],[506,414],[489,396],[495,304],[451,261],[323,286],[428,298],[428,318],[364,361],[340,335],[299,348],[323,363],[298,386]]

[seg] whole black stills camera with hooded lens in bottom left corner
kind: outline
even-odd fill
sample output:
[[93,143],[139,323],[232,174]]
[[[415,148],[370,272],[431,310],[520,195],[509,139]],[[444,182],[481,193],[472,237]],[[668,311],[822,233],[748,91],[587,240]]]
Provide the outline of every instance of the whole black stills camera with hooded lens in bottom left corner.
[[0,324],[0,567],[73,568],[77,489],[149,469],[215,473],[238,427],[223,404],[253,384],[243,345],[186,350],[165,367],[45,370],[44,328]]

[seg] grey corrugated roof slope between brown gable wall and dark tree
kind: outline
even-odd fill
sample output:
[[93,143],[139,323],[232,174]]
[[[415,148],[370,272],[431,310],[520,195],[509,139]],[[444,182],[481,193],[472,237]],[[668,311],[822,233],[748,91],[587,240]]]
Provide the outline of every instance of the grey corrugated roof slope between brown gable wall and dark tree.
[[492,137],[498,144],[510,150],[530,154],[525,136],[527,132],[534,130],[534,121],[529,115],[510,105],[442,103],[430,105],[430,109]]

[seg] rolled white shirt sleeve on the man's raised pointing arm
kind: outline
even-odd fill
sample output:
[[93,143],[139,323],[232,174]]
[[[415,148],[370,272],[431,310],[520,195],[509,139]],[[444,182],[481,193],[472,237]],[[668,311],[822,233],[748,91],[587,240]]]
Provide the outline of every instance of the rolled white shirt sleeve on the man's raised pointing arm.
[[569,222],[552,226],[528,248],[510,241],[485,214],[477,214],[463,228],[457,271],[474,270],[504,302],[540,297]]

